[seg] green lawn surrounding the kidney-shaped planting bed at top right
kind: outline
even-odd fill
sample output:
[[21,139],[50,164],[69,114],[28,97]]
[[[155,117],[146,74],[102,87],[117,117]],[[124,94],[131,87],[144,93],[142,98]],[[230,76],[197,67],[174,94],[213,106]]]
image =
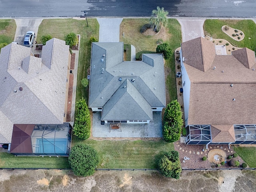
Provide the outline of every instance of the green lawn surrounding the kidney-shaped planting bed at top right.
[[[233,40],[227,34],[222,32],[221,27],[223,25],[242,30],[242,32],[244,32],[244,39],[242,41]],[[212,38],[226,39],[236,47],[247,47],[253,51],[255,51],[256,48],[256,24],[252,20],[207,19],[204,22],[204,34]]]

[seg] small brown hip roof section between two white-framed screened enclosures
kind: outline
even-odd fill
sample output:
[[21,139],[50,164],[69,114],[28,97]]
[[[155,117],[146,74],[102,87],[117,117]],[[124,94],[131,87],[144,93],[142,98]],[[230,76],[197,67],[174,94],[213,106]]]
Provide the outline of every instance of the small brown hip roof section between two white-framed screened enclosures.
[[211,125],[212,142],[235,142],[233,125]]

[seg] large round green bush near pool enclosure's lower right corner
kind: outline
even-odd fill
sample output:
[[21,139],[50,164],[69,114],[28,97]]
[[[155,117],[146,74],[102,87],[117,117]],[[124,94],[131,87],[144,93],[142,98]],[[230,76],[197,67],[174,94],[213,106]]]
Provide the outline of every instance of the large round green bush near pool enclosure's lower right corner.
[[75,175],[89,176],[99,163],[98,152],[86,144],[77,144],[71,148],[68,162]]

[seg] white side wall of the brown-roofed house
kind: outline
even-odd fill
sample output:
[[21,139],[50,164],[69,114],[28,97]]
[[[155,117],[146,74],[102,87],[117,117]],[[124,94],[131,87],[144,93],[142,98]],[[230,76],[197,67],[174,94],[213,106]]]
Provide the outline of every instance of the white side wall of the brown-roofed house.
[[[186,60],[186,58],[184,58]],[[184,102],[184,116],[185,116],[185,126],[188,125],[188,110],[189,110],[189,100],[190,100],[190,80],[188,73],[182,61],[182,50],[180,50],[180,66],[181,66],[181,77],[182,77],[182,88],[183,88],[183,102]]]

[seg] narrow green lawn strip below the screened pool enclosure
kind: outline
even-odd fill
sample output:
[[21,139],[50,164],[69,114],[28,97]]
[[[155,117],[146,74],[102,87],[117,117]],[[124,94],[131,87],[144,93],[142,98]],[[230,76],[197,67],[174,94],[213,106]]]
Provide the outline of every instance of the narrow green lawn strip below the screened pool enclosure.
[[1,168],[70,168],[67,157],[28,157],[14,156],[0,152]]

